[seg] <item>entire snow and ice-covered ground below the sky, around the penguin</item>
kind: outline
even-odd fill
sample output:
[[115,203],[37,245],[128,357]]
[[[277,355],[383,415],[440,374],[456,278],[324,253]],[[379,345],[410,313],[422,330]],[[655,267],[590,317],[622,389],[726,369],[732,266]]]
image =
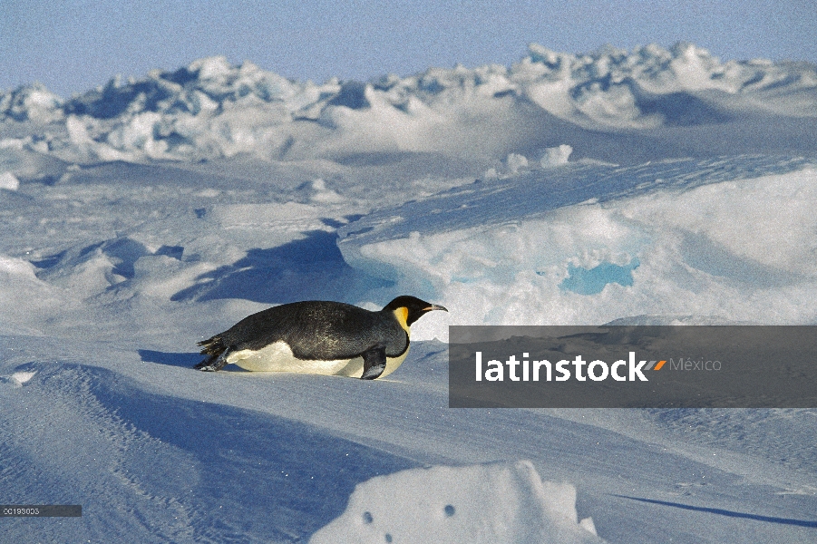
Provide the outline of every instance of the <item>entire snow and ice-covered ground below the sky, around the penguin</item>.
[[[501,541],[488,501],[507,535],[813,542],[817,410],[452,410],[441,341],[817,324],[815,112],[813,65],[691,44],[0,94],[0,502],[83,505],[4,538]],[[385,380],[191,370],[265,307],[400,294],[451,311]]]

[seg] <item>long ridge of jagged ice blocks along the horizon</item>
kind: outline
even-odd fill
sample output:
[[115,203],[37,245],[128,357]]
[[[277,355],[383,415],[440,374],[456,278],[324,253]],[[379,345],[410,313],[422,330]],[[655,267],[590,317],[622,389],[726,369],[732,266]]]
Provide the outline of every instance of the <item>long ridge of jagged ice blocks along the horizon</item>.
[[36,127],[16,139],[27,149],[86,163],[242,153],[295,160],[394,151],[501,157],[531,142],[552,147],[554,131],[578,139],[578,127],[713,125],[737,112],[797,120],[814,118],[815,103],[817,67],[810,63],[723,63],[693,44],[587,54],[531,44],[511,67],[433,68],[368,83],[299,83],[253,63],[205,58],[141,80],[117,77],[68,101],[38,84],[5,92],[0,121]]

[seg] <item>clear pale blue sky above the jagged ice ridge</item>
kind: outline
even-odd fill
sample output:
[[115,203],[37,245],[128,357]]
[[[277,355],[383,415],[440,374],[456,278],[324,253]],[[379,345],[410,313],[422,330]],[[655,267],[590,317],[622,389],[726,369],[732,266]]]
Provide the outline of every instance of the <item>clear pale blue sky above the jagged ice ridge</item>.
[[813,0],[0,0],[0,14],[0,90],[39,81],[63,97],[216,54],[317,82],[508,65],[530,42],[582,53],[689,41],[724,60],[817,62]]

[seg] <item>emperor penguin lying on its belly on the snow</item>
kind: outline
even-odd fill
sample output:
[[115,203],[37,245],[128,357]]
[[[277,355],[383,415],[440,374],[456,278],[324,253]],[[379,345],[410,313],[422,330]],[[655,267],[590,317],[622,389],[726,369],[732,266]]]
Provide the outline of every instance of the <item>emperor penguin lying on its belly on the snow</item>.
[[448,311],[414,296],[398,296],[376,312],[325,300],[274,306],[199,342],[207,358],[194,368],[216,372],[237,364],[251,371],[374,380],[404,362],[411,325],[433,310]]

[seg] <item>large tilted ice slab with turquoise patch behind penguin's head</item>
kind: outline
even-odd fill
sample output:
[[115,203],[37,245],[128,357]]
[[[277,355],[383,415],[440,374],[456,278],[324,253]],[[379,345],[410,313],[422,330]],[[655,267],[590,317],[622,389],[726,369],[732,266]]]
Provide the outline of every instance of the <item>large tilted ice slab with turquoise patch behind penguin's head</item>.
[[340,228],[338,247],[449,308],[417,339],[645,314],[808,324],[815,187],[808,161],[772,157],[531,170],[377,210]]

